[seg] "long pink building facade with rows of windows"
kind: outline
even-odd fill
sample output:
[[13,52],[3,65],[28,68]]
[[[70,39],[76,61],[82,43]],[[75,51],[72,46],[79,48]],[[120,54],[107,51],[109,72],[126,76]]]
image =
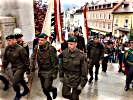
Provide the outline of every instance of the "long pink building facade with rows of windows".
[[91,35],[112,34],[112,10],[117,4],[118,2],[88,6],[87,21]]

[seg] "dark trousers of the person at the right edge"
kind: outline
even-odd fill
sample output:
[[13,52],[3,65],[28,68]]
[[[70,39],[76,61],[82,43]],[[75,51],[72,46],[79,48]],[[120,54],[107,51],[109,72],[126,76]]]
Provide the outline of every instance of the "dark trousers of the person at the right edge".
[[129,87],[133,80],[133,66],[128,67],[128,73],[126,76],[126,86]]

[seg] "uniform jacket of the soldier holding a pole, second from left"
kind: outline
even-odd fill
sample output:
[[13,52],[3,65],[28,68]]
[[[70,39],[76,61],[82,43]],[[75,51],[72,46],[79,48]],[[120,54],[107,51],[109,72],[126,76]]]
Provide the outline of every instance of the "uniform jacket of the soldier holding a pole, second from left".
[[39,76],[44,78],[57,77],[58,72],[58,59],[57,51],[46,42],[44,46],[36,46],[33,54],[31,55],[31,70],[35,70],[36,61],[39,67]]

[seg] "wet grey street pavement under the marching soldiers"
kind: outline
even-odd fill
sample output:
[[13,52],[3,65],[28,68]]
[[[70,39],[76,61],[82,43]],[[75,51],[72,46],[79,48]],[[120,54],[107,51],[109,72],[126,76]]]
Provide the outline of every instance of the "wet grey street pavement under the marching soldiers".
[[[93,84],[86,84],[80,95],[80,100],[132,100],[133,90],[124,91],[125,76],[117,72],[118,64],[108,65],[107,74],[102,73],[100,69],[98,82],[93,81]],[[54,86],[58,88],[58,96],[55,100],[67,100],[61,96],[62,84],[59,79],[54,81]],[[0,90],[0,100],[13,100],[14,95],[12,88],[7,92],[4,92],[2,89]],[[23,97],[22,100],[27,100],[27,96]],[[29,100],[46,100],[37,76],[34,77]]]

